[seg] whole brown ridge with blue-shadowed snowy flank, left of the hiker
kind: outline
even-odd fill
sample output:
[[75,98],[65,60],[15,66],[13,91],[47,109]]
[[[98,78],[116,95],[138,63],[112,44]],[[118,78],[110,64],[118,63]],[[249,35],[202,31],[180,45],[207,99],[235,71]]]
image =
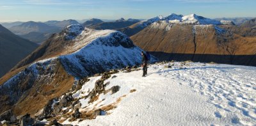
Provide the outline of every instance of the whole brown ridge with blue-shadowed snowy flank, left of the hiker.
[[68,26],[0,79],[0,113],[35,114],[70,90],[74,79],[139,65],[141,51],[119,31]]

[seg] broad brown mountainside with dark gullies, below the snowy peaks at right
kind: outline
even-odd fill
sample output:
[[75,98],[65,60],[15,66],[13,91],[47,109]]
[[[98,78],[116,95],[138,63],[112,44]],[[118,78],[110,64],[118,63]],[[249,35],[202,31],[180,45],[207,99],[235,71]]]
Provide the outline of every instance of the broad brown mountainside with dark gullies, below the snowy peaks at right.
[[131,39],[162,60],[256,65],[256,38],[244,38],[214,24],[194,24],[173,24],[161,20]]

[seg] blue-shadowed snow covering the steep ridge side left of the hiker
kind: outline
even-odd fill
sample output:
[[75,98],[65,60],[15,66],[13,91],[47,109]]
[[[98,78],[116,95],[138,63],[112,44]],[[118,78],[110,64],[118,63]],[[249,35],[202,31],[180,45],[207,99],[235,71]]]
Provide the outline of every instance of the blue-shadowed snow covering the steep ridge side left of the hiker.
[[82,35],[85,37],[78,36],[73,49],[85,44],[84,47],[72,54],[60,56],[61,64],[74,77],[84,77],[92,74],[92,71],[101,72],[141,63],[142,49],[133,45],[129,37],[120,31],[94,30]]

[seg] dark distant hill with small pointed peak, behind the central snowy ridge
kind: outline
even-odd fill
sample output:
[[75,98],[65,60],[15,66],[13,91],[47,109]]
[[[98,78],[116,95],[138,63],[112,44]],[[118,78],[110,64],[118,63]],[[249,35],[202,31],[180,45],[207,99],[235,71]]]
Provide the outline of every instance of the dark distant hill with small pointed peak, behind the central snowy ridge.
[[135,24],[139,21],[140,20],[135,20],[135,19],[129,19],[129,20],[118,19],[115,22],[102,22],[100,24],[95,24],[88,28],[92,28],[92,29],[121,29],[121,28],[131,26],[132,24]]

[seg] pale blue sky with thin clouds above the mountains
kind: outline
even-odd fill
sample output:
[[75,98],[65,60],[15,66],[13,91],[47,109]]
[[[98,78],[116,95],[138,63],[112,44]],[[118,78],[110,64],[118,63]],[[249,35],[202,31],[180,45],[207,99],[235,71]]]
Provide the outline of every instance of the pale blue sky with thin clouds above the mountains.
[[256,17],[255,0],[1,0],[0,22],[64,19],[149,19],[171,13]]

